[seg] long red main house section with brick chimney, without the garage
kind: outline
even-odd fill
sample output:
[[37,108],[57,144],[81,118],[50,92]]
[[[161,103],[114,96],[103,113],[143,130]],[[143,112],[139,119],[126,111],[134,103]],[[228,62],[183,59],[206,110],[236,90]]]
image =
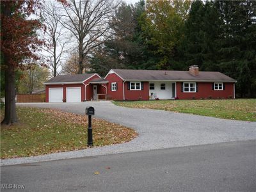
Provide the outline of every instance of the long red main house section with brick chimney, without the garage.
[[108,97],[114,100],[234,99],[236,80],[220,72],[111,69]]

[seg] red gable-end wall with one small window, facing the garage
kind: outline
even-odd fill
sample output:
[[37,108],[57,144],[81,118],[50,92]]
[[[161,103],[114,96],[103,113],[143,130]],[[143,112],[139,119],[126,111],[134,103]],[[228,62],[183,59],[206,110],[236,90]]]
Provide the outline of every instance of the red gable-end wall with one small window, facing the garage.
[[[123,95],[123,80],[118,77],[116,74],[108,74],[106,78],[109,83],[107,84],[107,89],[108,89],[108,99],[113,99],[113,100],[124,100],[124,95]],[[117,90],[115,92],[111,91],[111,83],[117,83]]]

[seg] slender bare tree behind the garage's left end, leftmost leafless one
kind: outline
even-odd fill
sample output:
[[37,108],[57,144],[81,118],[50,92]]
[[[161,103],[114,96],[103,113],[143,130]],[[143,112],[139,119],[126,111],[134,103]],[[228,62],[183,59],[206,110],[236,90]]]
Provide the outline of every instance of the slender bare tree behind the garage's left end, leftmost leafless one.
[[56,2],[47,1],[44,10],[44,23],[46,26],[44,40],[46,42],[45,58],[49,63],[52,76],[57,76],[60,72],[61,63],[67,52],[68,38],[65,36],[65,28],[60,23],[60,7]]

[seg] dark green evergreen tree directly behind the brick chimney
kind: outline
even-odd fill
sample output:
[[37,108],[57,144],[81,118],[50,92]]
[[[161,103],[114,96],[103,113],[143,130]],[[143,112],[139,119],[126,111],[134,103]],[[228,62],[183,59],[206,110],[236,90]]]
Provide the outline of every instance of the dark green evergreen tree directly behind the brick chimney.
[[191,4],[183,43],[186,67],[199,65],[200,70],[218,70],[216,40],[220,35],[220,25],[220,14],[212,1]]

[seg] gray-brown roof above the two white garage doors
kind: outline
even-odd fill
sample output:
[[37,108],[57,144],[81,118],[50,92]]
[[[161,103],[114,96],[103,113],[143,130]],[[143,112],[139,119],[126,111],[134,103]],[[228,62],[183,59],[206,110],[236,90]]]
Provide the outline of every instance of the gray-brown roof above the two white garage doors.
[[82,83],[84,80],[94,76],[95,74],[76,74],[76,75],[61,75],[56,76],[45,82],[45,84],[51,83]]

